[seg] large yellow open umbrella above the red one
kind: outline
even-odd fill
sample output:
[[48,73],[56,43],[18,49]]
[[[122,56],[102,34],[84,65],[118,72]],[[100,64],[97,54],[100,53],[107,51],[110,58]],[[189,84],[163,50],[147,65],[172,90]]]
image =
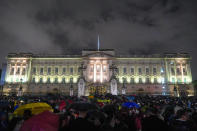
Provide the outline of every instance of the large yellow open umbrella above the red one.
[[52,111],[53,109],[47,103],[39,102],[39,103],[30,103],[20,106],[14,111],[14,115],[23,116],[24,110],[31,110],[32,115],[39,114],[43,111]]

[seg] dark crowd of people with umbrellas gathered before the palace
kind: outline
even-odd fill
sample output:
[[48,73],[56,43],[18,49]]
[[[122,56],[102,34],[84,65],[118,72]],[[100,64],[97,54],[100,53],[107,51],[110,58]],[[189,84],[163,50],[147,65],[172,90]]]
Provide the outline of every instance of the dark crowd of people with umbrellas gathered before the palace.
[[[53,108],[53,114],[57,116],[51,115],[51,119],[54,118],[53,124],[58,125],[51,129],[42,127],[42,131],[197,130],[196,97],[113,96],[107,94],[80,98],[76,96],[0,96],[0,131],[26,131],[27,128],[24,128],[26,121],[30,121],[34,117],[31,110],[24,110],[23,117],[12,114],[16,108],[32,102],[49,104]],[[36,131],[36,129],[30,128],[28,130]]]

